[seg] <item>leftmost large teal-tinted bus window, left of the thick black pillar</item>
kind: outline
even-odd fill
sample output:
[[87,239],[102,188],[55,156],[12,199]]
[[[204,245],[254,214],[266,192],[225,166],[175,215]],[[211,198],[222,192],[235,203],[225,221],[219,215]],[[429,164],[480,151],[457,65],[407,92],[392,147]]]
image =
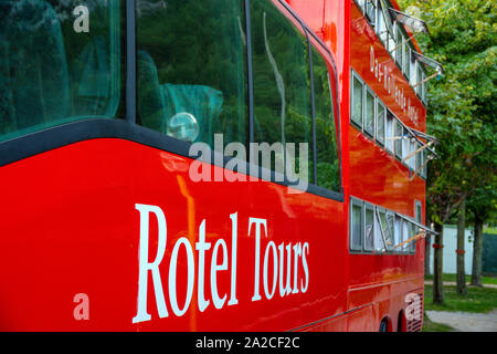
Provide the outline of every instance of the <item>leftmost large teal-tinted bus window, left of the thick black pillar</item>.
[[0,2],[0,142],[116,115],[121,84],[119,3]]

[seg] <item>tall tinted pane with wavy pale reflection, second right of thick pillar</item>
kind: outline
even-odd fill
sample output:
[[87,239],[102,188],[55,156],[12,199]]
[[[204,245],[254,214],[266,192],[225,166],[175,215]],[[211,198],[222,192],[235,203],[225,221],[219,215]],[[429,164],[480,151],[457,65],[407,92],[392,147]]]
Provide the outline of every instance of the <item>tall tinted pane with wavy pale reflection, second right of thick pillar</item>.
[[[251,22],[254,142],[283,146],[294,143],[295,156],[300,156],[299,143],[306,143],[308,162],[311,162],[313,115],[306,37],[267,0],[251,1]],[[276,159],[281,159],[277,155],[278,152]],[[305,177],[298,160],[295,166],[300,177]],[[310,163],[307,176],[314,181]]]

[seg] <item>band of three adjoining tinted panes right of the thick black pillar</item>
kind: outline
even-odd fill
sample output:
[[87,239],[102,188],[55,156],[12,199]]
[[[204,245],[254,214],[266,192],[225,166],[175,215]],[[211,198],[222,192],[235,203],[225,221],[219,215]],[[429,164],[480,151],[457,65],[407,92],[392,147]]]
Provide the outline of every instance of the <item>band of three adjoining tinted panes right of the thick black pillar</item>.
[[305,28],[269,0],[247,13],[243,0],[138,0],[137,10],[141,125],[211,148],[214,134],[255,143],[245,158],[266,167],[264,179],[340,190],[332,67]]

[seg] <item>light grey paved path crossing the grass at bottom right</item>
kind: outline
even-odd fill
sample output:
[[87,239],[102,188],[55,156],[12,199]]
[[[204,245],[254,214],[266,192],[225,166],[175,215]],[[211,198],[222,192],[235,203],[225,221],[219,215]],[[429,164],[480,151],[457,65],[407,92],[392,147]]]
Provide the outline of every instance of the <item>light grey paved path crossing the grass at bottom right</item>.
[[426,311],[430,320],[458,332],[497,332],[497,310],[489,313]]

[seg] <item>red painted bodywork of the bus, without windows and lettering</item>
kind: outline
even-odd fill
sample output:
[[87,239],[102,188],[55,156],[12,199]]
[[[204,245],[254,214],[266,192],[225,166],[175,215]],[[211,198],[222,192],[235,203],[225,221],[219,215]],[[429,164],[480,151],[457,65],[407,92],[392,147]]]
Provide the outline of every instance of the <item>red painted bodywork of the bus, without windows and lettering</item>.
[[[405,166],[350,125],[350,69],[408,126],[424,132],[425,108],[353,1],[287,2],[329,46],[337,64],[345,201],[289,194],[283,185],[261,180],[194,183],[189,177],[192,159],[118,138],[83,140],[9,164],[0,169],[0,330],[378,331],[382,319],[389,319],[389,330],[396,330],[399,313],[406,306],[405,295],[423,293],[424,241],[416,242],[414,256],[350,254],[349,198],[413,217],[414,200],[421,201],[424,210],[425,181],[420,177],[410,181]],[[417,110],[416,119],[401,108],[395,95],[371,71],[371,48]],[[213,174],[223,173],[220,167],[205,167]],[[167,243],[159,270],[168,315],[159,316],[155,282],[148,274],[147,312],[151,319],[134,323],[139,282],[137,205],[157,206],[165,215]],[[230,216],[234,214],[237,303],[229,304]],[[276,248],[308,243],[307,273],[303,257],[294,262],[292,253],[290,283],[296,293],[282,296],[276,284],[274,295],[267,299],[260,278],[262,299],[253,300],[256,242],[254,225],[248,230],[251,218],[266,220],[260,271],[271,241]],[[159,231],[158,220],[152,216],[149,220],[152,262]],[[203,220],[211,247],[205,252],[202,290],[195,242]],[[180,238],[188,239],[194,256],[194,269],[189,269],[186,249],[179,248],[176,289],[180,309],[189,271],[193,272],[194,287],[188,310],[176,315],[168,279],[171,252]],[[216,273],[216,290],[226,299],[215,309],[210,269],[214,243],[220,239],[226,244],[228,267]],[[286,251],[284,254],[287,262]],[[223,263],[223,257],[215,262]],[[269,290],[273,266],[271,261],[267,264]],[[198,308],[199,291],[209,301],[203,311]],[[87,295],[87,320],[76,319],[76,294]]]

